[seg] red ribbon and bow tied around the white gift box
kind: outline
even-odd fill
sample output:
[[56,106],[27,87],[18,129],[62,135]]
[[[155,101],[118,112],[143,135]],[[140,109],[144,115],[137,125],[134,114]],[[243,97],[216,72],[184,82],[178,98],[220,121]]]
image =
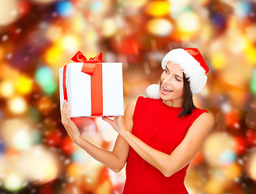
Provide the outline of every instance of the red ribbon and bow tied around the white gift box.
[[[102,53],[96,57],[87,60],[80,51],[71,58],[75,62],[83,62],[81,72],[91,76],[91,102],[92,116],[103,115],[103,94],[102,94]],[[63,93],[64,99],[67,101],[66,95],[66,65],[63,69]]]

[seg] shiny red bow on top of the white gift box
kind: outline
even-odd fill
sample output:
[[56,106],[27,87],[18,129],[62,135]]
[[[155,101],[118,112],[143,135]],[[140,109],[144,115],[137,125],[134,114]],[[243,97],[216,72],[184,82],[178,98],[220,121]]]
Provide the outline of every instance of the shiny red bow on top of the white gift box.
[[82,72],[91,76],[94,74],[96,63],[103,62],[102,53],[98,54],[96,57],[90,57],[89,60],[87,60],[87,58],[84,57],[83,53],[80,51],[76,53],[71,60],[75,62],[83,62]]

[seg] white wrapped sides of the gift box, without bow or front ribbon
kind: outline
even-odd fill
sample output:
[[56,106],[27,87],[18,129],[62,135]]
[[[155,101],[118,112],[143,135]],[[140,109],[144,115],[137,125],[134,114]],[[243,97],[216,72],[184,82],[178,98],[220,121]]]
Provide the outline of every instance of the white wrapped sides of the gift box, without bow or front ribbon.
[[[121,116],[124,114],[122,63],[102,62],[102,115]],[[81,72],[83,62],[66,65],[66,95],[70,117],[92,116],[91,75]],[[63,73],[59,69],[60,106],[64,103]],[[97,85],[94,84],[97,89]]]

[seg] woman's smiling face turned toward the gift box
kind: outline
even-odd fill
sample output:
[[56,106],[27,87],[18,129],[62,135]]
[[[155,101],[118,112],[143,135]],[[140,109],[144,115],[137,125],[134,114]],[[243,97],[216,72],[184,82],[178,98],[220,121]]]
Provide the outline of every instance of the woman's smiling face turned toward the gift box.
[[182,107],[183,71],[180,65],[168,62],[161,74],[160,98],[172,107]]

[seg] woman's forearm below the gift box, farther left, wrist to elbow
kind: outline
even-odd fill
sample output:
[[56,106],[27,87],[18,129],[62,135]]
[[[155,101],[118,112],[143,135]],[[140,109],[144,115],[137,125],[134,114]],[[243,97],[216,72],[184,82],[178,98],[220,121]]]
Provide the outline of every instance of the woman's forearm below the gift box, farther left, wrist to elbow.
[[122,169],[122,162],[117,158],[117,155],[112,151],[101,149],[91,142],[85,140],[83,137],[80,137],[75,142],[79,147],[90,154],[92,158],[95,158],[97,161],[103,163],[106,167],[109,167],[112,171],[118,172]]

